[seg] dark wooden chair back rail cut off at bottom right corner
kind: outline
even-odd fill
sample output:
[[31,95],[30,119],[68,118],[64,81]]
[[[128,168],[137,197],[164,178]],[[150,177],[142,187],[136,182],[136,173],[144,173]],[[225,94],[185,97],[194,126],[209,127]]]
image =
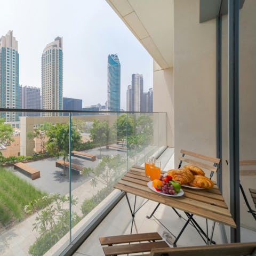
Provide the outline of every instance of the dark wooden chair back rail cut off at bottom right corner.
[[150,256],[245,256],[256,255],[256,242],[153,249]]

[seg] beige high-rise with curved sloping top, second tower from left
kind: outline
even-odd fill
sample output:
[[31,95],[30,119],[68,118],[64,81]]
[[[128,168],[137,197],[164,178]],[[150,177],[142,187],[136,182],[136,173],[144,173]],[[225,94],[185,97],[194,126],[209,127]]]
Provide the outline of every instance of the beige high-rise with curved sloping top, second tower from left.
[[[63,52],[62,37],[47,44],[42,54],[42,108],[62,110]],[[44,113],[52,116],[53,113]]]

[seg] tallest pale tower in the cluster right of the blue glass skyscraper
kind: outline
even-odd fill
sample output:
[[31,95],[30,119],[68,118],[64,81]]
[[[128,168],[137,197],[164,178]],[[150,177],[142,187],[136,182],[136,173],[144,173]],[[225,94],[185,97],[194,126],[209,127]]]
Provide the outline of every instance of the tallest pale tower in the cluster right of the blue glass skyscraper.
[[132,74],[132,111],[141,111],[143,101],[143,76]]

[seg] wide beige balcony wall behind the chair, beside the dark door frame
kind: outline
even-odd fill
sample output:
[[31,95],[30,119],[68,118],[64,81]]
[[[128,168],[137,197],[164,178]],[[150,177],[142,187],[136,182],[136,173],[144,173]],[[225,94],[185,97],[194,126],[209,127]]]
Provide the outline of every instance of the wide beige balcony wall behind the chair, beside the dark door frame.
[[216,22],[199,23],[199,0],[174,0],[175,166],[180,149],[216,156]]

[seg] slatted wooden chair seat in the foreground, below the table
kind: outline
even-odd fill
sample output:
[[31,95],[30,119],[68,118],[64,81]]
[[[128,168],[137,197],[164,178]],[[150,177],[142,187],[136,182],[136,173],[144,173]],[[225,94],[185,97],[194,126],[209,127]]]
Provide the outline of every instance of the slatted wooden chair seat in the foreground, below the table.
[[[100,237],[99,240],[106,256],[143,253],[150,252],[154,248],[169,247],[166,242],[161,241],[162,237],[158,233],[107,236]],[[137,256],[142,256],[142,254],[137,254]]]

